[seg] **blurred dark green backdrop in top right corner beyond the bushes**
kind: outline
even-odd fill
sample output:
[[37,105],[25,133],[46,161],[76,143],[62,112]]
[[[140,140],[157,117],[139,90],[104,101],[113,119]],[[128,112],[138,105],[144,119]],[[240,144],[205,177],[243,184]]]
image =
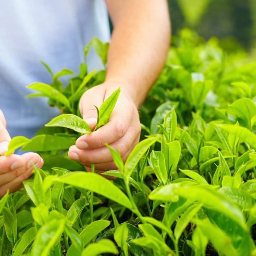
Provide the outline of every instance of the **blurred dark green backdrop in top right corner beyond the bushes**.
[[256,0],[168,0],[172,34],[184,27],[205,39],[218,37],[223,48],[229,42],[246,50],[256,42]]

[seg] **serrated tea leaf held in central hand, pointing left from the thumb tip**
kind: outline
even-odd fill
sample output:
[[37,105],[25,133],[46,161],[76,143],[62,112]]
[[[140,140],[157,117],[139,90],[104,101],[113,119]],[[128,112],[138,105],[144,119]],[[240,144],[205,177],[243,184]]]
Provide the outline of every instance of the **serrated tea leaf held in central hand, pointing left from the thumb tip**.
[[53,120],[51,120],[45,126],[66,127],[80,133],[91,133],[90,126],[86,123],[86,121],[73,114],[62,114],[54,117]]

